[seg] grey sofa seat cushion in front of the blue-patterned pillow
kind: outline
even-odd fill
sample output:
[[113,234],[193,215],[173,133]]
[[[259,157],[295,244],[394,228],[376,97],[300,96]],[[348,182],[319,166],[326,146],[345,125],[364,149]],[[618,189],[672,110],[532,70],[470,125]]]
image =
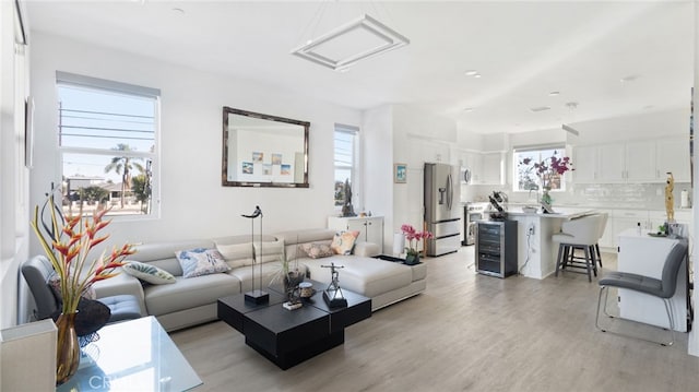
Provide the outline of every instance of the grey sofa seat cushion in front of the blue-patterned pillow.
[[144,288],[149,314],[161,316],[215,304],[217,298],[240,294],[240,281],[228,274],[177,277],[174,285]]

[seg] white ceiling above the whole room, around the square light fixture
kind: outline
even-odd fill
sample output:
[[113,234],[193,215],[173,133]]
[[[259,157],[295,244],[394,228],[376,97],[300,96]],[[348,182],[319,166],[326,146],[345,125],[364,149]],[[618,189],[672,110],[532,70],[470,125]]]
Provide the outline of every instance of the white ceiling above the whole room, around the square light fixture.
[[[32,31],[356,109],[407,104],[478,133],[688,108],[694,85],[692,1],[26,3]],[[411,44],[347,72],[291,55],[363,13]],[[466,70],[483,78],[466,76]],[[620,82],[625,76],[637,79]],[[560,95],[549,96],[553,91]],[[578,108],[568,109],[568,102]],[[529,110],[538,106],[552,109]]]

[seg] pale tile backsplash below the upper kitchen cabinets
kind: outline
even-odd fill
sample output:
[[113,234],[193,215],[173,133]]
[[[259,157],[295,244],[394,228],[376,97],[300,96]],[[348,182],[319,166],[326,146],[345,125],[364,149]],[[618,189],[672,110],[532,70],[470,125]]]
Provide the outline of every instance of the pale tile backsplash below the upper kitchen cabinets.
[[[682,191],[690,195],[689,182],[676,182],[674,189],[675,207],[679,209]],[[502,191],[513,203],[536,203],[536,192],[514,192],[509,186],[462,185],[461,201],[488,201],[493,191]],[[596,207],[629,207],[665,210],[665,183],[581,183],[569,186],[565,192],[552,192],[554,205],[588,205]]]

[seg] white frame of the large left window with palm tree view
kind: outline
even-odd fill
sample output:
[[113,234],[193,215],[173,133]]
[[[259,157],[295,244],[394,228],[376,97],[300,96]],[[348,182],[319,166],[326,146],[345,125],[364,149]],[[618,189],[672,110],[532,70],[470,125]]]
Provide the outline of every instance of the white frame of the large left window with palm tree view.
[[153,146],[152,151],[118,151],[114,149],[100,149],[100,147],[85,147],[85,146],[64,146],[61,145],[61,107],[60,98],[58,110],[58,126],[56,129],[58,139],[58,154],[59,154],[59,170],[61,182],[69,178],[69,175],[63,173],[63,166],[66,156],[73,155],[96,155],[104,157],[115,157],[115,151],[118,151],[120,155],[138,158],[143,161],[143,167],[145,171],[151,173],[151,199],[150,211],[147,213],[107,213],[110,218],[117,221],[131,221],[131,219],[154,219],[159,218],[161,214],[161,91],[158,88],[144,87],[128,83],[121,83],[110,80],[97,79],[92,76],[79,75],[62,71],[56,72],[56,90],[58,96],[58,88],[60,86],[70,86],[73,88],[82,88],[85,91],[92,91],[97,93],[116,93],[120,95],[130,95],[134,97],[141,97],[151,99],[153,103]]

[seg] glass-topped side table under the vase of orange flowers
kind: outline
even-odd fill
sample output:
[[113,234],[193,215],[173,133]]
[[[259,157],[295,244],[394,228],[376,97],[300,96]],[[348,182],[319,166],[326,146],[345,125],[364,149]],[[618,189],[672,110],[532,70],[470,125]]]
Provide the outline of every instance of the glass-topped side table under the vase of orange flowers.
[[106,325],[57,391],[187,391],[202,381],[153,317]]

